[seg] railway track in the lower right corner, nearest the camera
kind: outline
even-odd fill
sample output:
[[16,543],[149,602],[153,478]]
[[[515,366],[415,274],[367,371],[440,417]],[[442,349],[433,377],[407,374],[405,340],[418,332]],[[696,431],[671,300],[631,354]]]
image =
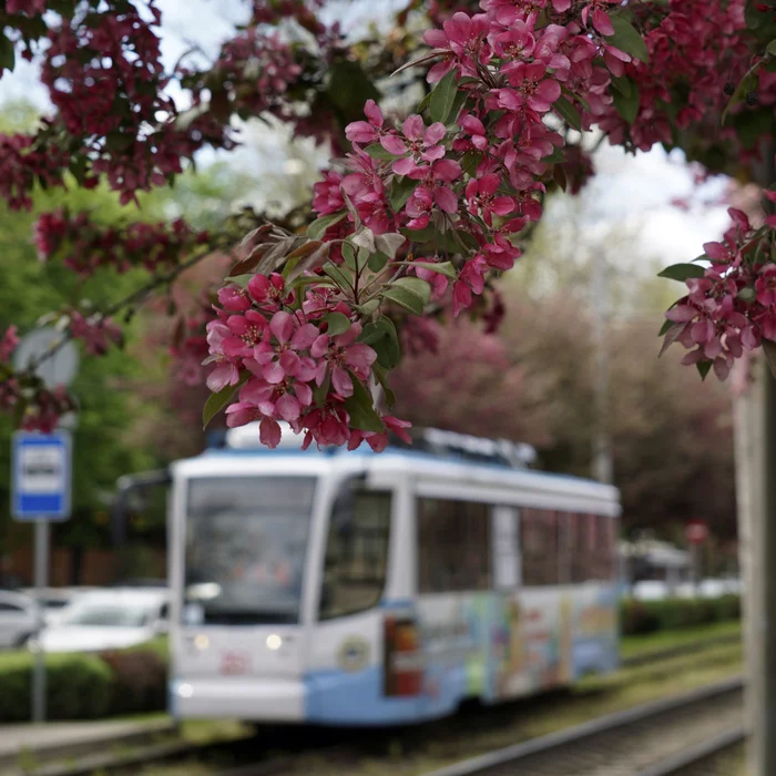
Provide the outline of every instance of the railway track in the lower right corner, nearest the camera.
[[[739,677],[643,704],[426,776],[667,776],[744,732]],[[727,736],[727,738],[725,738]],[[690,757],[694,755],[694,759]],[[684,757],[684,759],[682,759]],[[663,770],[656,769],[663,767]],[[673,767],[673,770],[666,769]],[[680,768],[680,770],[677,770]]]

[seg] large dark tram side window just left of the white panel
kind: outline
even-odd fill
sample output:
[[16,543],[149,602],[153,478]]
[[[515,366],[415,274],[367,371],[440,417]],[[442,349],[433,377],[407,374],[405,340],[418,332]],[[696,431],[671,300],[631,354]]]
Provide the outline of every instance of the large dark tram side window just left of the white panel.
[[490,589],[489,511],[473,501],[418,499],[421,593]]

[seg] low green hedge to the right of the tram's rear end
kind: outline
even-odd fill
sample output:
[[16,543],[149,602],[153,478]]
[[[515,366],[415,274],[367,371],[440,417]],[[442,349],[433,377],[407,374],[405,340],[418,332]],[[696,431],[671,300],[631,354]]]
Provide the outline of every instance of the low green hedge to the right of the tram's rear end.
[[693,625],[741,619],[741,598],[722,595],[716,599],[666,599],[620,604],[621,632],[624,636],[671,631]]

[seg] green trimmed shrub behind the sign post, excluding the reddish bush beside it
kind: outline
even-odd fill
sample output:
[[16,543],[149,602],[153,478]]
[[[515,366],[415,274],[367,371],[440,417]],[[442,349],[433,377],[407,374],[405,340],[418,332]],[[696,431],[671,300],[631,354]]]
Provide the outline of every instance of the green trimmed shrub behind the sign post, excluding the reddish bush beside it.
[[[34,655],[0,656],[0,723],[29,722]],[[111,668],[96,656],[47,655],[47,714],[51,719],[93,719],[110,712]]]

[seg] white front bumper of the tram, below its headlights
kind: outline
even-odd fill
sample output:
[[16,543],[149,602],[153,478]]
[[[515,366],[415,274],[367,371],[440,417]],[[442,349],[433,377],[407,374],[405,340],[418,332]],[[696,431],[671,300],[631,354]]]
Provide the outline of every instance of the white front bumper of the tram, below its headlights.
[[170,683],[170,713],[181,719],[234,718],[246,722],[302,722],[305,685],[294,680],[219,676]]

